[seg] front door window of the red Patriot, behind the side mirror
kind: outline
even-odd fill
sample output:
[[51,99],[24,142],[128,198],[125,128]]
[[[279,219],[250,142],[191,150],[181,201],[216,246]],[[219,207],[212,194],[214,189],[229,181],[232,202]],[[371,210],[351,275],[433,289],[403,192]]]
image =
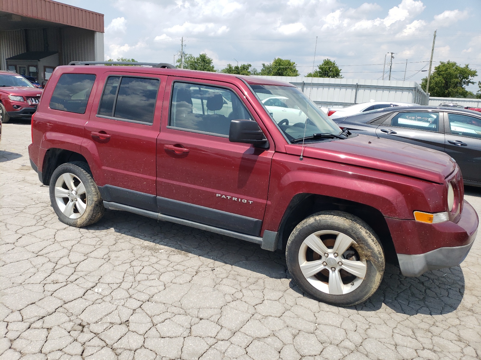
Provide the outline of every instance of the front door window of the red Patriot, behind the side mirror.
[[241,100],[220,87],[175,83],[170,126],[228,135],[230,120],[252,120]]

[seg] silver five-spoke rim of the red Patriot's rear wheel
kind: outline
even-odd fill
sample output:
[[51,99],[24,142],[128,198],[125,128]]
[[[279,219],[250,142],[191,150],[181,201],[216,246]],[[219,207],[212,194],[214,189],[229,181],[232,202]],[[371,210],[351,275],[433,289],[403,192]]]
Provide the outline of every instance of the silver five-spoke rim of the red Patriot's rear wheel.
[[85,186],[74,174],[63,173],[55,182],[55,201],[63,215],[76,219],[85,213]]

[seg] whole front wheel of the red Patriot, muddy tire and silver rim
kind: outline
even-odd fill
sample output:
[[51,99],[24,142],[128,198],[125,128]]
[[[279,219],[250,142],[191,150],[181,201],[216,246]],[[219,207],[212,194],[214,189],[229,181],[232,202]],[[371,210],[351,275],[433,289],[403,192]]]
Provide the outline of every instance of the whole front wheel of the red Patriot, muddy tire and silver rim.
[[292,279],[316,300],[351,306],[379,288],[385,258],[375,232],[341,211],[307,217],[291,233],[286,261]]

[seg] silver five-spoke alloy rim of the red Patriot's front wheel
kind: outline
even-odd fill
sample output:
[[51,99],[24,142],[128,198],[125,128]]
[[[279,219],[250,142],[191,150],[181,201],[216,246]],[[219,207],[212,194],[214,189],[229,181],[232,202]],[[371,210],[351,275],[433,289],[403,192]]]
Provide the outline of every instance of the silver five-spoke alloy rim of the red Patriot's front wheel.
[[316,231],[299,249],[299,266],[306,280],[330,295],[344,295],[363,282],[366,259],[356,250],[356,242],[334,230]]

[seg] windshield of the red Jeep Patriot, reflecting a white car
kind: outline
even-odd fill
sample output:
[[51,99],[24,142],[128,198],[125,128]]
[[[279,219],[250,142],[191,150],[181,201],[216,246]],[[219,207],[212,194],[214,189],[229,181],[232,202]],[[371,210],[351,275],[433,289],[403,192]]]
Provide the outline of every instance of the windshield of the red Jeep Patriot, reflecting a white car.
[[[251,88],[291,143],[304,137],[304,126],[308,141],[345,137],[336,123],[297,87],[251,85]],[[328,136],[317,136],[319,134]]]

